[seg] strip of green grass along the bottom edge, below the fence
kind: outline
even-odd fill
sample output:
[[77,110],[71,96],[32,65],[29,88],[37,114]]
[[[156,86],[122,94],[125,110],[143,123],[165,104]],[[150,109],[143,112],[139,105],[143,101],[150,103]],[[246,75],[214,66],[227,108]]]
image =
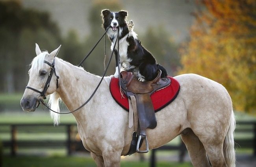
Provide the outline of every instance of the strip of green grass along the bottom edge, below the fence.
[[[96,167],[92,158],[83,157],[4,157],[2,167]],[[192,167],[191,163],[162,161],[158,167]],[[121,167],[149,167],[148,162],[121,160]]]

